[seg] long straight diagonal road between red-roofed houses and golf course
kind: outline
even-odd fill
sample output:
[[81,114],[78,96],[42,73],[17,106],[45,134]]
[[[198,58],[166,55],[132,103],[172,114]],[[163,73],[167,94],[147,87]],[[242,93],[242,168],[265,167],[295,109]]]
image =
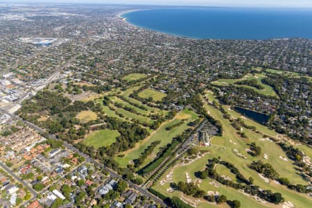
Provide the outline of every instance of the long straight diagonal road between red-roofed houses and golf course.
[[[3,110],[2,108],[0,108],[0,112],[3,112],[4,114],[7,114],[7,115],[11,116],[12,118],[23,122],[24,124],[28,125],[28,127],[33,128],[33,130],[36,130],[37,132],[40,132],[43,135],[47,135],[50,139],[57,139],[54,135],[49,135],[42,128],[40,128],[37,125],[34,125],[33,123],[30,123],[28,121],[24,121],[23,119],[21,119],[19,116],[16,116],[15,114],[11,114],[10,112]],[[89,157],[89,155],[85,155],[85,153],[81,153],[80,150],[73,147],[71,144],[68,144],[66,141],[63,141],[63,144],[65,147],[67,147],[69,150],[72,150],[74,153],[78,153],[80,156],[85,157],[85,159],[88,162],[92,162],[93,164],[96,164],[96,165],[100,166],[101,168],[105,169],[105,171],[110,173],[111,177],[116,177],[116,178],[119,178],[119,180],[123,180],[124,182],[126,182],[128,184],[128,186],[133,187],[134,189],[139,191],[142,195],[153,199],[155,202],[159,203],[159,205],[162,205],[162,207],[166,207],[166,204],[162,200],[160,200],[159,198],[154,196],[152,193],[148,192],[146,189],[143,189],[143,188],[139,187],[137,184],[134,184],[128,180],[123,179],[123,177],[121,175],[118,175],[116,172],[112,171],[110,168],[107,168],[107,166],[104,166],[103,164],[96,161],[95,159],[92,159],[91,157]]]

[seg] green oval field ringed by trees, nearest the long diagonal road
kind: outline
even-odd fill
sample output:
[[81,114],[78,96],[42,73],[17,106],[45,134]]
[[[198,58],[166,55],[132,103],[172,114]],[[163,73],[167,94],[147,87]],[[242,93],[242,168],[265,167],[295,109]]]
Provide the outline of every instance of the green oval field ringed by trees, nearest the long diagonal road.
[[101,146],[110,146],[113,144],[119,135],[117,130],[98,130],[87,135],[84,142],[87,146],[100,148]]

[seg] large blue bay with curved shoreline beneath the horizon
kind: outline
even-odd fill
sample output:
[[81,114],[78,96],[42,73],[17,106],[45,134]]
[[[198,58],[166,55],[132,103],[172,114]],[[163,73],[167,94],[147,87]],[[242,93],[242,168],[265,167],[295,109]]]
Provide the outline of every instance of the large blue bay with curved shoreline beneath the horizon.
[[141,28],[199,39],[312,39],[312,9],[166,8],[122,17]]

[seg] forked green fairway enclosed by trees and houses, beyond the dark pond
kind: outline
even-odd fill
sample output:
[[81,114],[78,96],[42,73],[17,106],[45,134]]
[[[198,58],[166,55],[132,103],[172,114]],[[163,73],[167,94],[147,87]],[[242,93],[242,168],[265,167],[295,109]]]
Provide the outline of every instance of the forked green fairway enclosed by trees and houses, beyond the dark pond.
[[[213,82],[213,84],[223,85],[223,86],[232,84],[232,85],[235,85],[237,87],[247,87],[247,88],[253,89],[255,92],[258,92],[259,94],[277,96],[277,94],[275,93],[274,89],[272,89],[272,87],[270,87],[269,85],[264,85],[263,83],[261,83],[261,79],[263,79],[265,77],[266,77],[266,75],[264,73],[256,73],[256,74],[254,74],[254,76],[252,76],[252,74],[248,74],[241,79],[220,79],[220,80],[216,80]],[[248,85],[236,85],[236,84],[234,84],[240,80],[253,80],[253,79],[257,80],[257,83],[259,85],[261,85],[262,87],[264,87],[264,89],[257,89],[255,87],[251,87]]]

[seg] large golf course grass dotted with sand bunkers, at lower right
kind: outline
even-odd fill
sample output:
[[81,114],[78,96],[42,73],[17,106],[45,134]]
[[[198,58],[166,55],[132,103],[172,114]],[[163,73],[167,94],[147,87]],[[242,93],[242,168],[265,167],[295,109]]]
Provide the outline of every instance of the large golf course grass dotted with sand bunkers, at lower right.
[[[211,94],[209,95],[211,96]],[[214,97],[210,97],[213,99]],[[243,132],[246,133],[248,139],[242,139],[239,135],[236,134],[236,130],[232,127],[227,119],[224,119],[220,110],[211,105],[205,104],[205,108],[209,113],[219,120],[223,125],[223,136],[222,137],[213,137],[211,140],[210,147],[201,147],[205,150],[209,150],[209,154],[205,155],[201,159],[196,160],[195,162],[187,165],[187,166],[177,166],[175,168],[169,168],[168,171],[162,176],[162,179],[166,177],[170,171],[173,171],[173,182],[184,181],[186,182],[186,173],[189,173],[193,182],[198,182],[198,178],[195,176],[197,171],[202,171],[207,164],[207,160],[213,157],[220,157],[220,159],[225,160],[227,162],[231,162],[235,164],[236,168],[239,168],[239,171],[245,176],[245,178],[253,177],[254,184],[259,186],[261,189],[270,189],[273,192],[279,192],[285,198],[286,201],[291,201],[295,205],[295,207],[309,207],[312,204],[311,198],[302,193],[297,193],[296,191],[291,191],[290,189],[281,186],[280,184],[276,184],[275,182],[270,181],[269,183],[264,182],[264,180],[259,177],[256,171],[248,168],[248,164],[252,161],[261,159],[263,162],[268,162],[275,168],[277,173],[281,177],[287,177],[293,184],[308,184],[305,180],[300,176],[300,172],[295,169],[293,162],[288,159],[288,161],[284,161],[279,158],[279,156],[286,157],[285,153],[277,144],[272,141],[268,141],[263,139],[263,135],[257,134],[251,130],[247,130],[243,128]],[[225,109],[227,107],[225,106]],[[239,113],[229,111],[229,113],[234,117],[241,117]],[[255,123],[249,122],[249,120],[244,120],[248,125],[254,125]],[[271,130],[268,130],[266,126],[263,125],[255,125],[257,130],[260,132],[275,135]],[[246,152],[246,148],[248,148],[248,144],[250,142],[255,142],[257,146],[261,146],[262,153],[258,157],[252,157],[248,155]],[[248,159],[243,159],[234,153],[234,148],[239,151],[239,153],[245,155]],[[311,155],[311,148],[306,146],[298,146],[298,148],[304,150],[306,155]],[[268,159],[263,158],[263,154],[268,155]],[[227,175],[229,177],[234,177],[232,173],[229,173],[227,168],[223,166],[217,166],[217,172],[222,175]],[[267,203],[266,205],[257,202],[253,198],[243,195],[243,193],[239,193],[239,191],[225,187],[221,185],[220,188],[216,188],[209,184],[211,180],[206,179],[202,180],[200,184],[200,188],[205,191],[219,191],[221,194],[225,194],[230,200],[240,200],[241,207],[281,207],[281,205],[272,205]],[[182,196],[182,193],[175,191],[174,193],[168,193],[166,189],[168,189],[169,185],[160,185],[159,181],[153,187],[160,193],[165,196]],[[197,207],[208,207],[210,204],[207,202],[198,203]],[[221,206],[222,207],[222,206]]]

